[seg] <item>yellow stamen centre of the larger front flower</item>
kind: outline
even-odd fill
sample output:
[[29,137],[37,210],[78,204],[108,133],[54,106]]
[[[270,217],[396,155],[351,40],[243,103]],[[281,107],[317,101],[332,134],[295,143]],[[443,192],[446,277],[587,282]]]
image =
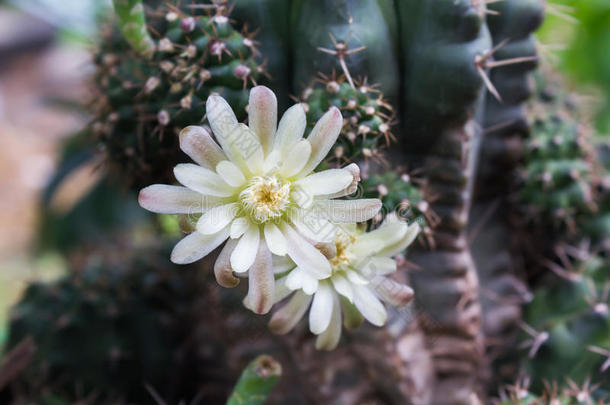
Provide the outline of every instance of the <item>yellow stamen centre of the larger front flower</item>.
[[275,176],[256,176],[239,193],[242,206],[252,219],[261,223],[280,217],[290,203],[290,183]]

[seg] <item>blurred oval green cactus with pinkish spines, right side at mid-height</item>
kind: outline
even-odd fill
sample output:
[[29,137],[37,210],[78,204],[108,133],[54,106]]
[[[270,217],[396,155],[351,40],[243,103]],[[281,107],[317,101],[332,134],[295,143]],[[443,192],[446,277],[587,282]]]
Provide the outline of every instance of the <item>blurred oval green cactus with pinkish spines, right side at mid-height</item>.
[[579,122],[568,97],[542,90],[531,111],[534,122],[521,192],[526,217],[537,225],[574,232],[595,209],[591,131]]

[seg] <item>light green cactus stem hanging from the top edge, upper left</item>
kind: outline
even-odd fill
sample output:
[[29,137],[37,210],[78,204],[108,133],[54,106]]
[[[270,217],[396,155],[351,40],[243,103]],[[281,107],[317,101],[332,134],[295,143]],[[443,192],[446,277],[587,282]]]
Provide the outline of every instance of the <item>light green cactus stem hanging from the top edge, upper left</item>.
[[155,42],[146,29],[142,0],[113,0],[121,33],[129,45],[146,58],[152,58]]

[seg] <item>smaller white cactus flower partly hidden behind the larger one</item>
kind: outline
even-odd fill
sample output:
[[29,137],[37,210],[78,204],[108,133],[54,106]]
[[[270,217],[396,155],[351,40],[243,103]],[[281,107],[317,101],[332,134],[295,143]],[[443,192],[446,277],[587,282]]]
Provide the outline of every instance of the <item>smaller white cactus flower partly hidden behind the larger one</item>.
[[407,225],[395,216],[368,233],[355,224],[341,225],[334,244],[318,245],[332,266],[331,275],[321,280],[294,264],[276,263],[276,273],[287,273],[277,280],[275,301],[292,296],[273,314],[269,327],[288,333],[309,308],[309,329],[318,335],[316,348],[332,350],[341,338],[342,317],[347,325],[356,326],[364,317],[383,326],[387,313],[380,299],[402,306],[413,297],[410,287],[386,276],[397,268],[392,257],[406,249],[419,230],[417,223]]

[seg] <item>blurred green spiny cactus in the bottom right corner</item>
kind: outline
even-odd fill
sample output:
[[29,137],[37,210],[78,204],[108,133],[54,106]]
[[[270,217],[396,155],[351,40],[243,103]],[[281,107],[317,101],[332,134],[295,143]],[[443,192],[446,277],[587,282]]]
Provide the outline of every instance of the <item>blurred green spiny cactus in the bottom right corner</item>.
[[548,333],[539,350],[526,361],[526,369],[534,391],[542,391],[544,381],[565,384],[570,378],[581,385],[590,379],[592,384],[601,384],[601,395],[610,392],[608,378],[600,368],[605,359],[590,348],[610,347],[610,261],[591,255],[575,260],[573,267],[579,270],[578,275],[571,280],[548,280],[526,308],[525,321]]

